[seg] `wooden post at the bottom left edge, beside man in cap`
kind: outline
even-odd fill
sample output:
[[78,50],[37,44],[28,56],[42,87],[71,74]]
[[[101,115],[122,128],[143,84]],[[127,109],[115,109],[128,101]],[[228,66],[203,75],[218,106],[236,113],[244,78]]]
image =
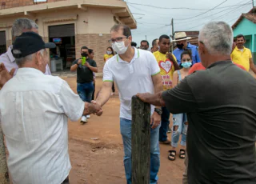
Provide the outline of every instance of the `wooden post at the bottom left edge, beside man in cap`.
[[2,127],[0,125],[0,184],[9,184],[8,167],[6,163],[6,146],[3,141]]

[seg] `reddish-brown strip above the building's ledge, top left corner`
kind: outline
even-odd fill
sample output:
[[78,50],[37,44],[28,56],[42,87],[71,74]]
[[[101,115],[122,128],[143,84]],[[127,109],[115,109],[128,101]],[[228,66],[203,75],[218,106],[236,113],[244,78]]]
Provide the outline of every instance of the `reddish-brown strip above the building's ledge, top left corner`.
[[[65,0],[47,0],[47,2],[58,2]],[[2,0],[0,1],[0,10],[14,8],[19,6],[31,6],[34,4],[41,4],[46,2],[36,2],[36,0]]]

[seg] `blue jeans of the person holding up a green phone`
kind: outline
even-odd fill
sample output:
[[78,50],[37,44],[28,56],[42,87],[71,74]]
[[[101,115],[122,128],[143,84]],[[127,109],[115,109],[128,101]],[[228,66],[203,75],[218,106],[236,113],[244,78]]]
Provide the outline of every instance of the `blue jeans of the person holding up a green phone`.
[[94,92],[94,82],[78,83],[77,91],[83,102],[91,102]]

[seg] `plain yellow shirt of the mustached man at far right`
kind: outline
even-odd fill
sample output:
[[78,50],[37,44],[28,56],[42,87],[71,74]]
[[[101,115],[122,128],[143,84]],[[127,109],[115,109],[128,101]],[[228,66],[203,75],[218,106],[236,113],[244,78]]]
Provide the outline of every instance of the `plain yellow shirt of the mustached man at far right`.
[[244,47],[243,50],[239,50],[236,46],[230,56],[234,63],[242,65],[247,71],[249,71],[250,58],[252,58],[250,49]]

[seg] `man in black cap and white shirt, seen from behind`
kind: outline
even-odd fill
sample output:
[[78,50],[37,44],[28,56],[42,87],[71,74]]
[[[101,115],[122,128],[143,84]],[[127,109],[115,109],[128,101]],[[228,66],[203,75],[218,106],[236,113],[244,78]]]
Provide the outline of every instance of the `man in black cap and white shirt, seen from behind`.
[[100,106],[82,102],[61,78],[43,74],[46,48],[54,46],[34,32],[17,37],[12,53],[19,69],[0,90],[0,121],[14,184],[69,183],[67,120],[102,113]]

